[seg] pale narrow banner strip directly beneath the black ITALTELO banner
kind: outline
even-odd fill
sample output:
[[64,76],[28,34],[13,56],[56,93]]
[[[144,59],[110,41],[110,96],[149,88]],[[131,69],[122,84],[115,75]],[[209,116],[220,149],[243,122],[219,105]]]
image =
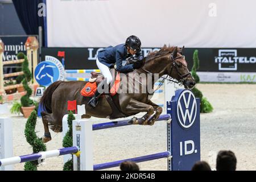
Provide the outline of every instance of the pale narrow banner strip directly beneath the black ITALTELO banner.
[[200,82],[256,82],[256,73],[197,72]]

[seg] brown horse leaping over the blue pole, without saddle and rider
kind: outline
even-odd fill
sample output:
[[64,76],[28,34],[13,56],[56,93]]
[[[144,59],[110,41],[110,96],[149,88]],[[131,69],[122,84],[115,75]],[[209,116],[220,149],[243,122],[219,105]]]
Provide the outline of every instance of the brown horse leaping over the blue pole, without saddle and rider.
[[[152,52],[144,58],[142,68],[135,69],[133,73],[159,74],[159,77],[168,75],[179,80],[185,88],[191,89],[196,83],[188,71],[184,56],[182,56],[183,48],[164,46],[160,51]],[[156,81],[154,80],[150,83],[152,88],[154,88]],[[77,105],[85,104],[86,115],[83,115],[82,118],[90,118],[92,116],[107,118],[110,115],[112,115],[112,118],[118,118],[113,117],[112,107],[110,107],[106,97],[100,98],[96,108],[92,108],[87,104],[90,98],[83,97],[80,94],[85,84],[86,82],[84,81],[57,81],[46,89],[40,101],[45,110],[41,113],[45,132],[43,142],[46,143],[51,140],[48,125],[56,133],[62,131],[62,118],[65,114],[68,114],[68,101],[76,100]],[[150,101],[148,99],[149,94],[148,91],[146,93],[120,93],[113,96],[113,101],[118,105],[120,113],[124,114],[123,117],[146,112],[142,118],[131,119],[133,124],[154,125],[154,122],[162,113],[162,107]],[[150,118],[152,114],[154,115]]]

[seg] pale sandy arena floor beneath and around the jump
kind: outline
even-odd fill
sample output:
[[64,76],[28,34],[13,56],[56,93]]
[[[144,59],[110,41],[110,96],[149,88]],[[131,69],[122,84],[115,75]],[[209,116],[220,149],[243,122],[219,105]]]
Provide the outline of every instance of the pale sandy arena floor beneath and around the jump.
[[[215,168],[215,159],[219,150],[232,150],[237,157],[238,170],[256,169],[256,84],[198,84],[213,105],[214,111],[201,114],[201,160],[209,162]],[[163,98],[159,98],[163,102]],[[11,105],[10,105],[11,107]],[[31,154],[32,149],[24,137],[26,119],[21,115],[6,114],[13,119],[14,155]],[[93,119],[94,123],[108,119]],[[42,137],[42,119],[36,126],[38,136]],[[47,150],[62,148],[62,134],[52,134]],[[127,126],[118,129],[94,131],[94,163],[132,158],[166,151],[166,125],[156,122],[154,126]],[[141,170],[166,170],[167,160],[159,159],[138,163]],[[38,169],[62,170],[63,156],[46,159]],[[24,164],[16,164],[15,170],[23,170]],[[109,170],[119,170],[111,168]]]

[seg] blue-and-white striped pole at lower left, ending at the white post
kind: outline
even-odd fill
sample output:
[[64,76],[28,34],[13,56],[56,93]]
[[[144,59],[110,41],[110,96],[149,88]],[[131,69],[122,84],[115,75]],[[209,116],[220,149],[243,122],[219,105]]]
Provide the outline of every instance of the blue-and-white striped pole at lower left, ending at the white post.
[[79,148],[75,146],[75,147],[67,147],[67,148],[60,148],[57,150],[39,152],[35,154],[16,156],[13,158],[0,159],[0,167],[24,163],[24,162],[31,162],[35,160],[38,160],[39,162],[41,162],[43,159],[46,159],[46,158],[52,158],[55,156],[66,155],[66,154],[73,154],[78,151],[79,151]]

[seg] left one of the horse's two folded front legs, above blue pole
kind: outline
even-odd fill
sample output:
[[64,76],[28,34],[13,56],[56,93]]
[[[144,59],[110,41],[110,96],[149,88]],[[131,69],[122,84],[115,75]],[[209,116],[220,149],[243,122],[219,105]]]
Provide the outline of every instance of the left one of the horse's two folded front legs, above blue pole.
[[144,104],[143,102],[139,102],[137,100],[130,100],[129,104],[126,106],[126,110],[129,111],[129,113],[141,113],[141,112],[147,112],[147,114],[143,115],[142,118],[133,118],[130,122],[133,123],[133,125],[148,125],[148,118],[154,114],[154,107],[148,104]]

